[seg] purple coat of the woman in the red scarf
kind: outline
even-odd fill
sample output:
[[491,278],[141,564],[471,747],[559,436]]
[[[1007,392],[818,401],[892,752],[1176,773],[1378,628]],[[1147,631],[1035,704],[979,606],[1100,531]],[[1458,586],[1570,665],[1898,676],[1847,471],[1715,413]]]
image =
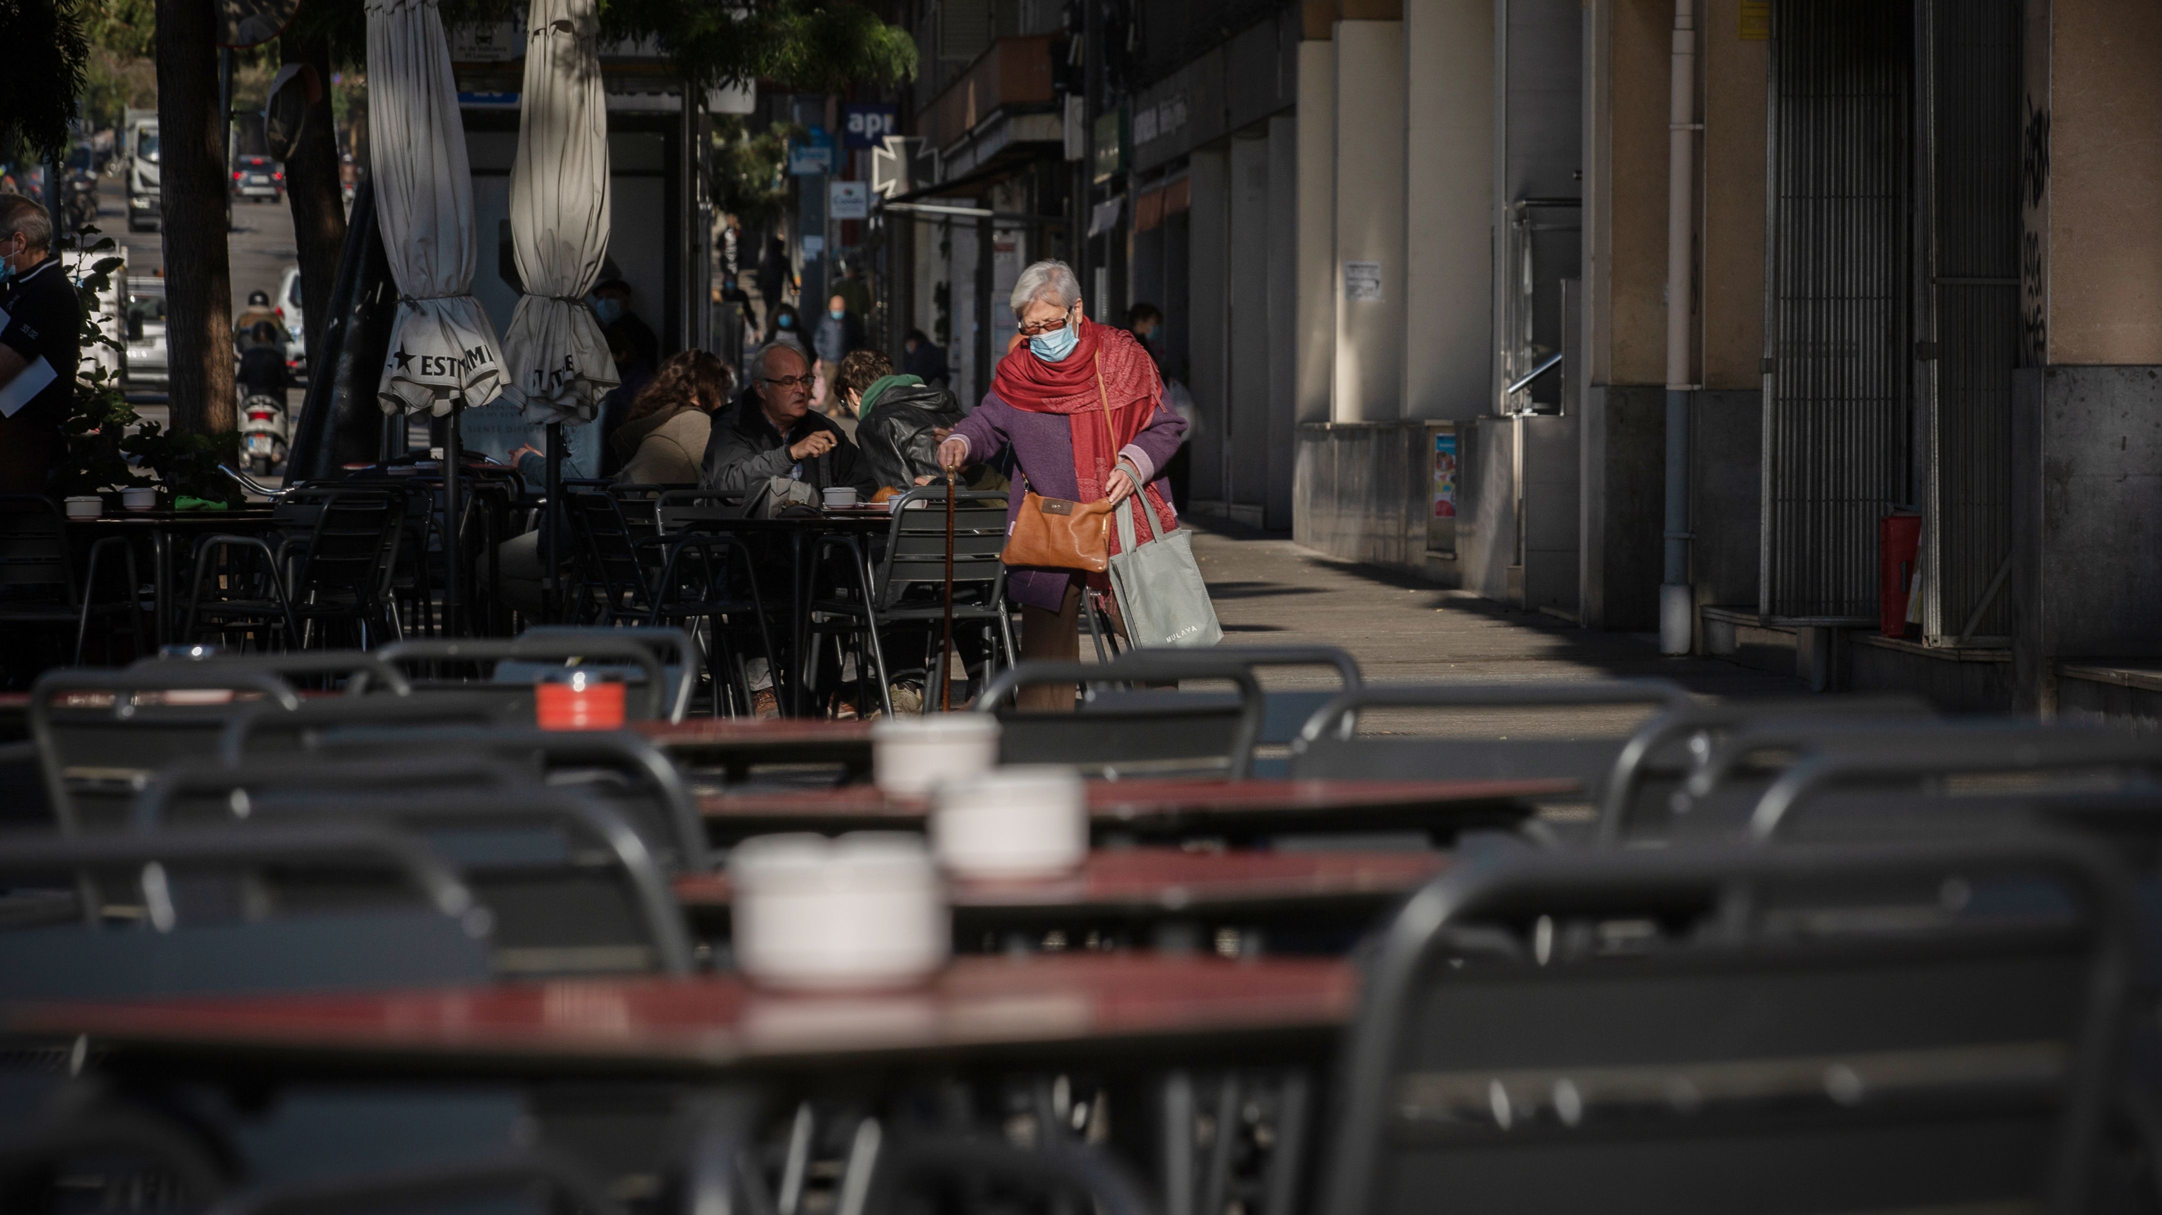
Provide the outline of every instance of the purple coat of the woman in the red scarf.
[[[1044,497],[1072,499],[1081,493],[1075,478],[1072,419],[1064,413],[1029,413],[1005,404],[997,393],[984,393],[984,404],[960,419],[953,437],[969,441],[969,458],[973,460],[986,460],[999,448],[1012,445],[1020,476],[1027,478],[1029,489]],[[1165,508],[1172,506],[1172,486],[1163,480],[1161,471],[1185,441],[1187,419],[1178,417],[1163,402],[1157,402],[1157,415],[1148,419],[1148,426],[1142,426],[1133,443],[1118,450],[1120,460],[1139,469],[1142,484],[1157,486],[1157,495],[1163,497]],[[1007,532],[1014,530],[1016,515],[1020,515],[1020,493],[1007,497]],[[1064,569],[1010,569],[1005,573],[1005,590],[1016,603],[1057,612],[1066,603],[1066,584],[1070,579],[1072,573]]]

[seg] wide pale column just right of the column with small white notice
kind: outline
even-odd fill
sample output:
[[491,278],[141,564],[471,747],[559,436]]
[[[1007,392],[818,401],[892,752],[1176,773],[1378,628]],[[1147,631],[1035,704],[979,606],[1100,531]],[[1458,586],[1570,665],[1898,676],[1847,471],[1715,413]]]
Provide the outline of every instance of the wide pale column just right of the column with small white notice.
[[1494,0],[1405,0],[1405,417],[1477,417],[1494,359]]

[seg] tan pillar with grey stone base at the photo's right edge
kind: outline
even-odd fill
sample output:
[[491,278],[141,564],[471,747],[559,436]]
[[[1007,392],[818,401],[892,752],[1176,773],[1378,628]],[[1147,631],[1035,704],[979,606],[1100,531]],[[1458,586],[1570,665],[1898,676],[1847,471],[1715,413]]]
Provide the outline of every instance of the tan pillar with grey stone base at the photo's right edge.
[[2013,670],[2162,655],[2162,9],[2028,0]]

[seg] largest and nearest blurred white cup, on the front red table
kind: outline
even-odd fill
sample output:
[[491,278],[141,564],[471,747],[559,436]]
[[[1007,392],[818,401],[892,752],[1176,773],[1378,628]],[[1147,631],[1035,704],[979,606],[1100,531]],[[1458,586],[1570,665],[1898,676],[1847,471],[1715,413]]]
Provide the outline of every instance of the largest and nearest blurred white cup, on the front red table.
[[729,854],[735,964],[768,988],[867,990],[927,979],[953,945],[923,837],[765,835]]

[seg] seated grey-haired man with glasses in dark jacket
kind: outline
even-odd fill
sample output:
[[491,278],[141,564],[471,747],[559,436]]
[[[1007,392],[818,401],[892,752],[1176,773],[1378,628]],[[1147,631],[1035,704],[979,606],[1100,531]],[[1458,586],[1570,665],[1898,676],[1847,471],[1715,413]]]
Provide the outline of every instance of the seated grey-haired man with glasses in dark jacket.
[[811,411],[811,352],[776,337],[746,359],[748,391],[713,419],[698,489],[757,489],[793,478],[811,489],[878,493],[869,460],[830,419]]

